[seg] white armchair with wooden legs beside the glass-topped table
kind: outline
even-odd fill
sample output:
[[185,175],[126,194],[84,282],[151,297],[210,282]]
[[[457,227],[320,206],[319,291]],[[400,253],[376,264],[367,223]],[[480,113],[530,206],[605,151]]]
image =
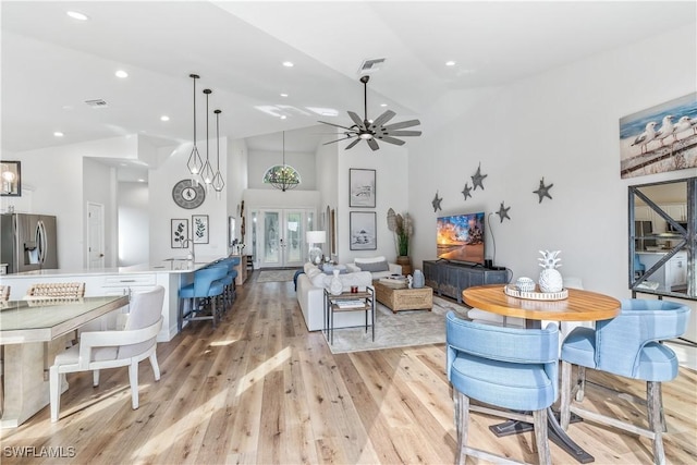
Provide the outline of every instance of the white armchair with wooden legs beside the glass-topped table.
[[61,396],[61,374],[94,371],[94,386],[99,386],[102,368],[129,367],[131,404],[138,408],[138,363],[150,359],[155,380],[160,379],[157,364],[157,334],[162,328],[164,287],[133,294],[125,328],[122,331],[88,331],[81,334],[80,344],[56,356],[50,368],[51,421],[58,421]]

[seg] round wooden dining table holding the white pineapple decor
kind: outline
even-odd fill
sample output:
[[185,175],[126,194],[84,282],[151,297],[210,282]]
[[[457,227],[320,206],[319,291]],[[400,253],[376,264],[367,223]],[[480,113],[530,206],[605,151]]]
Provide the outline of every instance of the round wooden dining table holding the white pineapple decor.
[[[598,321],[614,318],[621,311],[620,301],[597,292],[567,289],[568,296],[558,301],[521,298],[509,295],[505,285],[489,284],[467,287],[462,292],[463,301],[470,307],[525,320],[528,329],[540,328],[542,320],[549,321]],[[590,463],[595,458],[576,444],[562,429],[555,413],[547,412],[549,439],[566,451],[578,463]],[[576,418],[576,420],[579,420]],[[498,437],[529,431],[533,425],[509,420],[494,425],[491,430]]]

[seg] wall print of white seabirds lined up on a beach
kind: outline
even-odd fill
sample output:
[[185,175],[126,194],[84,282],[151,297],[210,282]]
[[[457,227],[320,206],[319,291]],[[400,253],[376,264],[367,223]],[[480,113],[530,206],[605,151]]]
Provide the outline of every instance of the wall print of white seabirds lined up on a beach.
[[620,119],[620,174],[697,167],[697,93]]

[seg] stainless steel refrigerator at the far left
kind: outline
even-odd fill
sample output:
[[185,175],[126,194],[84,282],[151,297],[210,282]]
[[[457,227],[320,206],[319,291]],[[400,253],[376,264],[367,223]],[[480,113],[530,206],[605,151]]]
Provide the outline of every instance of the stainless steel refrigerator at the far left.
[[56,217],[0,216],[0,262],[8,273],[58,268]]

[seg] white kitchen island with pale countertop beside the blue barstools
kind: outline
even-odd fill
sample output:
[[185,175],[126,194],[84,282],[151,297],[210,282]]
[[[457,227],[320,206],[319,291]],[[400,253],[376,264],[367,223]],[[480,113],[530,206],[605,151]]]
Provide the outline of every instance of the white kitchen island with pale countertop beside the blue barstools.
[[218,259],[199,259],[200,262],[170,259],[159,264],[96,270],[37,270],[2,276],[0,283],[11,286],[10,298],[13,301],[24,297],[35,283],[84,282],[86,297],[124,295],[161,285],[164,287],[164,321],[157,340],[166,342],[176,334],[180,287],[193,281],[194,271]]

